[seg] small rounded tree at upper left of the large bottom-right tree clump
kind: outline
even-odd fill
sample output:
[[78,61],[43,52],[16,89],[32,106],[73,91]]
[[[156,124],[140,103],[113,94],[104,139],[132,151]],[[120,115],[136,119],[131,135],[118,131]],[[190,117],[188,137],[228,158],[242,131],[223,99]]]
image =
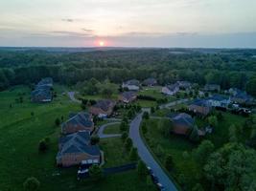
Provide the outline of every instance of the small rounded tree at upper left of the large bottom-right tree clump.
[[213,153],[214,144],[210,140],[203,140],[196,150],[193,151],[194,158],[200,165],[204,165],[207,158]]

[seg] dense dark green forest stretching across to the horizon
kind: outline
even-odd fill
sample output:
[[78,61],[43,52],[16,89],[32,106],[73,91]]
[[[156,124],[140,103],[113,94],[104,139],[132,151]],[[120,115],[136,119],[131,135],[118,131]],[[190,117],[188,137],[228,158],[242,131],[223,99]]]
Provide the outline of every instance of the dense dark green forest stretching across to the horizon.
[[155,77],[161,85],[188,80],[199,85],[236,87],[256,96],[255,50],[117,49],[0,49],[0,90],[12,85],[35,84],[52,76],[65,85],[91,78],[121,83]]

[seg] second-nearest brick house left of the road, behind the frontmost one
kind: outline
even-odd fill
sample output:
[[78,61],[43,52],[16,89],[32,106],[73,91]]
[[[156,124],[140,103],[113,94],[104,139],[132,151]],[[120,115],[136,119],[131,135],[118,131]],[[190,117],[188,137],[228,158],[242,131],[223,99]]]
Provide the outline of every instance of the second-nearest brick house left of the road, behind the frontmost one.
[[72,117],[61,124],[62,134],[73,134],[79,131],[88,131],[91,134],[93,130],[93,118],[90,114],[84,112],[72,115]]

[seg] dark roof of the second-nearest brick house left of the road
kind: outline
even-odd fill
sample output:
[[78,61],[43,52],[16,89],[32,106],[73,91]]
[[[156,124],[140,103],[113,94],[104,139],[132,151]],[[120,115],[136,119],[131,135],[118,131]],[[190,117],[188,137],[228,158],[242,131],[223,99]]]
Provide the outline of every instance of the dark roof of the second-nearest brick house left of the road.
[[67,121],[62,123],[61,128],[65,128],[67,124],[71,125],[82,125],[84,127],[91,127],[93,126],[93,121],[91,116],[88,113],[80,112],[72,117],[70,117]]

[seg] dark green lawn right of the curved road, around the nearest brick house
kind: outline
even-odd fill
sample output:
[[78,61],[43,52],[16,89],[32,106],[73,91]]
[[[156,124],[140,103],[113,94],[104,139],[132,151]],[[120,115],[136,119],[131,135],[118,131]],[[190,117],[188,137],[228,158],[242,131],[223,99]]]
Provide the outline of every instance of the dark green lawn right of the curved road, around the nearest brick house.
[[[219,125],[215,129],[215,133],[206,138],[210,139],[216,147],[221,147],[224,143],[228,141],[228,128],[231,124],[236,124],[239,126],[243,125],[246,118],[231,115],[228,113],[222,113],[223,120],[219,122]],[[185,178],[185,185],[187,190],[191,190],[195,185],[195,182],[199,182],[201,175],[201,167],[198,166],[197,161],[195,161],[191,152],[193,149],[197,148],[198,144],[192,143],[187,138],[170,135],[169,138],[165,138],[157,128],[159,119],[149,119],[147,120],[148,133],[144,135],[144,138],[151,148],[154,157],[157,158],[162,165],[164,164],[165,157],[170,154],[175,163],[175,169],[170,173],[175,180],[182,184],[180,180],[180,175],[183,176],[183,181]],[[197,120],[197,123],[202,125],[202,119]],[[242,137],[246,137],[247,133],[244,132]],[[163,149],[163,154],[159,155],[159,146]],[[187,151],[189,156],[184,157],[184,151]]]

